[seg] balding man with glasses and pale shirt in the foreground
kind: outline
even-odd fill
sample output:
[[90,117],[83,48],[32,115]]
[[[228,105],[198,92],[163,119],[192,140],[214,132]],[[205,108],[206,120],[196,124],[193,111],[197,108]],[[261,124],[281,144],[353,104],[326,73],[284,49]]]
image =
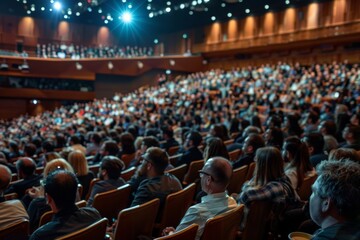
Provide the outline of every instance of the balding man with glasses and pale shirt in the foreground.
[[180,231],[196,223],[199,225],[196,239],[200,239],[205,223],[209,218],[237,206],[235,199],[226,194],[226,188],[232,175],[232,167],[227,159],[222,157],[210,158],[199,173],[201,188],[207,193],[207,196],[201,198],[201,203],[193,205],[187,210],[176,230],[168,227],[164,230],[164,234]]

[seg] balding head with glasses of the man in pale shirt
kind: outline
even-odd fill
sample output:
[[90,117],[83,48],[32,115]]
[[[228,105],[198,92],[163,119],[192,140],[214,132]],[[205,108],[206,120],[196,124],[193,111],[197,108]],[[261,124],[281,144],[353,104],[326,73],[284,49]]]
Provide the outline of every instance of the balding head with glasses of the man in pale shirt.
[[223,157],[213,157],[206,161],[200,173],[201,188],[207,194],[224,192],[232,176],[232,166]]

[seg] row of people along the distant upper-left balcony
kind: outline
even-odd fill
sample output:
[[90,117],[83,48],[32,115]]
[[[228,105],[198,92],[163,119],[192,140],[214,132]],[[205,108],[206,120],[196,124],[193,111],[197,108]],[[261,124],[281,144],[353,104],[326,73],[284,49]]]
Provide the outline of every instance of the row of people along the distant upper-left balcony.
[[153,56],[152,47],[82,46],[66,44],[37,44],[35,55],[40,58],[131,58]]

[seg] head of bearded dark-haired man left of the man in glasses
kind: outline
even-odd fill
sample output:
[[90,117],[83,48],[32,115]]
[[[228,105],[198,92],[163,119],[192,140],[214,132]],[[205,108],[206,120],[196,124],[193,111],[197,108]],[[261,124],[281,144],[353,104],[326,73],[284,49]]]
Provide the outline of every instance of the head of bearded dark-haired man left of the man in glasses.
[[148,178],[161,176],[169,165],[169,156],[161,148],[150,147],[143,155],[142,164]]

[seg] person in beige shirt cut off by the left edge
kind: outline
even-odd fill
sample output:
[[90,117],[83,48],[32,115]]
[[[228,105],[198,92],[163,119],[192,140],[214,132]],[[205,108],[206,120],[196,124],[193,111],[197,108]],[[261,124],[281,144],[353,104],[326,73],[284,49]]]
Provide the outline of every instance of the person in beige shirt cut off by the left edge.
[[10,169],[0,165],[0,229],[29,216],[19,200],[5,201],[4,192],[11,181]]

